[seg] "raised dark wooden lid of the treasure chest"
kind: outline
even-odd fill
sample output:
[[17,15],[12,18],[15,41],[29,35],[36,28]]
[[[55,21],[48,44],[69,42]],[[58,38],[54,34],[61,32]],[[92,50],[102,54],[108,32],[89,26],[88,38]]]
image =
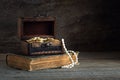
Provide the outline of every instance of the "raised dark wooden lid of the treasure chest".
[[55,37],[55,18],[19,18],[18,34],[21,40],[32,37]]

